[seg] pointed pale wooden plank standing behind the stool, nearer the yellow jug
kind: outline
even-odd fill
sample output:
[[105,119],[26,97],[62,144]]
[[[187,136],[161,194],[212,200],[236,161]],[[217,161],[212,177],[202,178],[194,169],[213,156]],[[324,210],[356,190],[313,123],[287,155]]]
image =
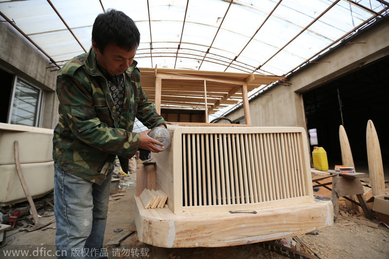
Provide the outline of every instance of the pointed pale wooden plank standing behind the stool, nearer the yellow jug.
[[[347,138],[346,130],[344,129],[343,125],[339,126],[339,142],[340,142],[340,152],[342,153],[342,165],[354,167],[354,171],[356,172],[349,138]],[[351,195],[350,198],[356,201],[356,195]],[[353,208],[356,211],[360,211],[359,206],[352,203],[351,201],[345,200],[345,203],[346,203],[346,207]]]

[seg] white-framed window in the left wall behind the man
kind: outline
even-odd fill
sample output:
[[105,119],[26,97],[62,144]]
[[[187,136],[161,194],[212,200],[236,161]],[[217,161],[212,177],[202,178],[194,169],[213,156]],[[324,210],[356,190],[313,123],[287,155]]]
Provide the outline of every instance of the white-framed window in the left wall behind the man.
[[39,126],[42,90],[32,83],[15,76],[8,123]]

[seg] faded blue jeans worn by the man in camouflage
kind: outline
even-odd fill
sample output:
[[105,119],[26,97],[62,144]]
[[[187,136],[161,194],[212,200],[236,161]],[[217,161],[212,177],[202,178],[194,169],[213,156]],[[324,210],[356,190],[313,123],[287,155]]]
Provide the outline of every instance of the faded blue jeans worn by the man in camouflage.
[[107,258],[101,250],[106,230],[112,170],[102,185],[54,165],[57,258]]

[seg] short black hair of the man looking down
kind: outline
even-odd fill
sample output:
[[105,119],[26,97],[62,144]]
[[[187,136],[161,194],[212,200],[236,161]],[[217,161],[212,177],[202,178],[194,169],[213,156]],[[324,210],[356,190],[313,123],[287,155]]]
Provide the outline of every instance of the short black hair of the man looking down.
[[140,39],[135,22],[122,11],[108,9],[106,13],[99,14],[93,23],[92,40],[102,53],[108,44],[133,50],[138,48]]

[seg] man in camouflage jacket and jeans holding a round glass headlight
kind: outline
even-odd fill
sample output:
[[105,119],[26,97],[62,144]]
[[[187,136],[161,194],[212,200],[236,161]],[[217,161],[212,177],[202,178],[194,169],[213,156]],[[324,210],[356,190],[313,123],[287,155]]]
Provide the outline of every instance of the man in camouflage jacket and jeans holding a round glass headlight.
[[128,167],[138,148],[163,151],[150,130],[132,132],[135,117],[149,129],[166,127],[141,88],[134,60],[139,42],[134,21],[109,10],[95,19],[90,51],[68,61],[57,77],[55,243],[69,258],[106,257],[100,249],[116,156]]

